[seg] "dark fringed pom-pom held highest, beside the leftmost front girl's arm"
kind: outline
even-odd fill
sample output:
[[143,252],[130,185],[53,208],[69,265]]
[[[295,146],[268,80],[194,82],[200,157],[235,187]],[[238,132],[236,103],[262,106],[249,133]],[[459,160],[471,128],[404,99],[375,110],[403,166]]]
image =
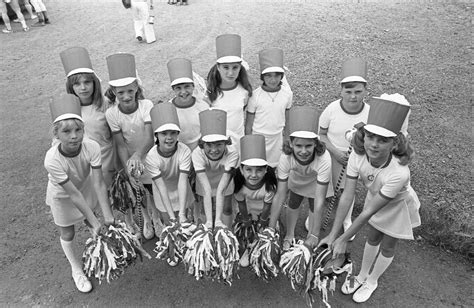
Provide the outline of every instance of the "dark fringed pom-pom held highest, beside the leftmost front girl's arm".
[[113,209],[125,213],[137,207],[146,207],[146,189],[140,181],[130,180],[124,169],[118,171],[109,190],[110,205]]

